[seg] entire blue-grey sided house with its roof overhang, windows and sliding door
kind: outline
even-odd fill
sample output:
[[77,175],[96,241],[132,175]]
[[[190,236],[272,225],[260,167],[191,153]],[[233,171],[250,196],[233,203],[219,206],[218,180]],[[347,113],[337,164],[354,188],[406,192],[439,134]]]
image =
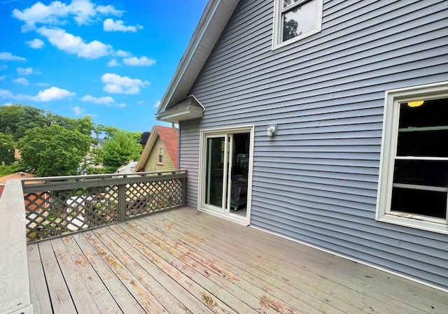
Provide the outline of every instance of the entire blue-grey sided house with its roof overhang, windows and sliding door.
[[211,0],[158,119],[188,205],[448,290],[446,0]]

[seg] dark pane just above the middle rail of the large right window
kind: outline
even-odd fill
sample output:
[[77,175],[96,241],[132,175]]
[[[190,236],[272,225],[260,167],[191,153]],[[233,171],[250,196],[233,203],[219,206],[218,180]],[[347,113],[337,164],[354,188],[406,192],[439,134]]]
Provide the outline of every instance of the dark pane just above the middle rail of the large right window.
[[399,131],[397,156],[448,157],[448,130]]

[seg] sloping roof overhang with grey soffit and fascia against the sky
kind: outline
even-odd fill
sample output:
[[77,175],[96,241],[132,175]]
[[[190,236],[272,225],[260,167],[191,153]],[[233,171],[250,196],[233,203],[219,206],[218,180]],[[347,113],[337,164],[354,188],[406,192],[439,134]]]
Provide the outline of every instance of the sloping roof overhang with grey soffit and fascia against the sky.
[[238,2],[239,0],[210,0],[207,3],[160,103],[158,115],[167,110],[168,106],[186,98]]

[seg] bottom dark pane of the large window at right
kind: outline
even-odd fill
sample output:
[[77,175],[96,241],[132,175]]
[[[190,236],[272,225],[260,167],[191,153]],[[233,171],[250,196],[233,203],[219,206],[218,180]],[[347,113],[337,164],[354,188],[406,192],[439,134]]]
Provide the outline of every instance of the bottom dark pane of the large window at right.
[[447,193],[393,187],[391,210],[444,219],[447,217]]

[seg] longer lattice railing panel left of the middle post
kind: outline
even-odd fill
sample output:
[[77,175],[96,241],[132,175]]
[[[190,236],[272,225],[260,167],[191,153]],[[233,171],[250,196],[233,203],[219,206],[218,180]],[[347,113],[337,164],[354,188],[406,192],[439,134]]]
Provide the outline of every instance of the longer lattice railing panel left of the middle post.
[[118,220],[118,186],[25,194],[27,241]]

